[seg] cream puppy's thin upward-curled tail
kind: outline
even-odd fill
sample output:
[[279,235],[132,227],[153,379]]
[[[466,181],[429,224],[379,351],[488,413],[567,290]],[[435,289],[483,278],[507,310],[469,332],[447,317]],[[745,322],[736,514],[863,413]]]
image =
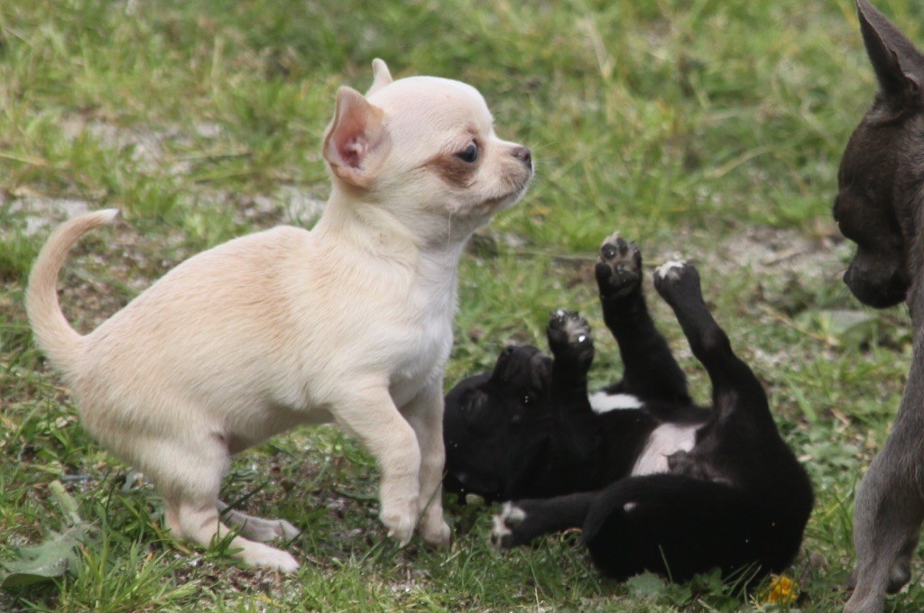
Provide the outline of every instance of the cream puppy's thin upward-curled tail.
[[67,253],[80,236],[93,228],[114,222],[118,213],[118,209],[97,210],[62,224],[42,247],[29,275],[26,313],[29,315],[32,333],[52,364],[68,374],[77,364],[83,337],[71,327],[61,312],[57,299],[58,274]]

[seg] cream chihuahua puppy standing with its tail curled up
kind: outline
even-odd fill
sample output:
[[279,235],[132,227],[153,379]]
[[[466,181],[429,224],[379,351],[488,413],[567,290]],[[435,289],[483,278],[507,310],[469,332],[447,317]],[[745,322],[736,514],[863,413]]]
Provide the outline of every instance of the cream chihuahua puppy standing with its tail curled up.
[[281,226],[189,258],[86,336],[55,292],[69,248],[112,222],[63,224],[31,272],[35,337],[74,391],[84,427],[149,475],[175,535],[295,571],[264,545],[298,531],[218,499],[229,458],[290,427],[334,420],[375,457],[380,518],[405,544],[449,542],[440,499],[443,372],[459,257],[513,205],[529,149],[497,138],[480,93],[458,81],[393,82],[382,60],[363,96],[337,91],[323,155],[333,177],[316,227]]

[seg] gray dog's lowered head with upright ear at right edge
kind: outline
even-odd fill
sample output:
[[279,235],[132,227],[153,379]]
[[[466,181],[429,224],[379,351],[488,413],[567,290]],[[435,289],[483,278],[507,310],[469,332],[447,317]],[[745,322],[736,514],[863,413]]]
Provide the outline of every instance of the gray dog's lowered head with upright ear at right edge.
[[869,306],[894,306],[911,282],[924,180],[924,56],[866,0],[857,14],[880,90],[850,137],[838,171],[834,220],[857,253],[844,282]]

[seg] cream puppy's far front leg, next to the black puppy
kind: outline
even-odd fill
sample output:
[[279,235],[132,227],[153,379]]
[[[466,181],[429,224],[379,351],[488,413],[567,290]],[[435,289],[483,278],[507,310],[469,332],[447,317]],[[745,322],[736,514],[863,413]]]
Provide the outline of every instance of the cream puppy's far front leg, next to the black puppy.
[[420,446],[419,533],[437,547],[449,545],[450,530],[443,519],[443,376],[407,404],[403,413]]

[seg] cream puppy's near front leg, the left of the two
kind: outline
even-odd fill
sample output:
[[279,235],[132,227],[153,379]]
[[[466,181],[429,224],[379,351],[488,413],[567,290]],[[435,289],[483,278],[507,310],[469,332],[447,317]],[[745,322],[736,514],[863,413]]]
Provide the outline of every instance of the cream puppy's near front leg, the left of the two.
[[337,403],[335,418],[372,454],[382,473],[379,519],[402,546],[417,525],[420,447],[414,429],[398,412],[387,387],[353,390]]

